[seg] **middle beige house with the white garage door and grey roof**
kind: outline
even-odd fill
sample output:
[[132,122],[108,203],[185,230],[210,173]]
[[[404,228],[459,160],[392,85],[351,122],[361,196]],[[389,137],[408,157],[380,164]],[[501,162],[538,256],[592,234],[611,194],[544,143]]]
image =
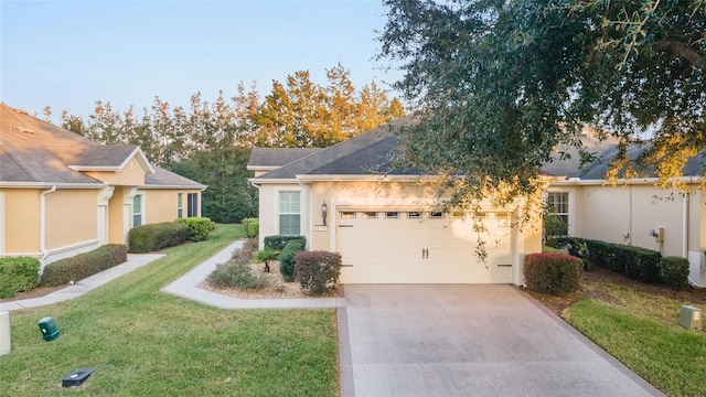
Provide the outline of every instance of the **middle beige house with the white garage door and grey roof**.
[[[253,150],[259,238],[303,235],[308,249],[338,251],[345,283],[523,283],[524,255],[542,249],[536,224],[513,228],[520,208],[435,210],[436,189],[392,169],[393,121],[327,149]],[[472,217],[488,227],[488,259],[474,254]]]

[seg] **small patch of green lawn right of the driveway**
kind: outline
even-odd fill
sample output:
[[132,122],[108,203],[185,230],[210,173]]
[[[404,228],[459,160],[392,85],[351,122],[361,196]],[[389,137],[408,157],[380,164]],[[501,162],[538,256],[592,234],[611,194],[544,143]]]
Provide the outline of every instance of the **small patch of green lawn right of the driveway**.
[[627,288],[610,294],[611,303],[573,304],[566,320],[668,396],[706,396],[706,332],[677,325],[681,302]]

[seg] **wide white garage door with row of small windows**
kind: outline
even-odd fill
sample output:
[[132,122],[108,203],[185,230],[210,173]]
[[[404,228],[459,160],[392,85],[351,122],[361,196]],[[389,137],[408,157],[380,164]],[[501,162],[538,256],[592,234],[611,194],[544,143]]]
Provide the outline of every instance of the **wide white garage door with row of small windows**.
[[488,259],[475,255],[479,233],[466,214],[345,210],[336,214],[336,251],[344,283],[511,283],[509,213],[485,212]]

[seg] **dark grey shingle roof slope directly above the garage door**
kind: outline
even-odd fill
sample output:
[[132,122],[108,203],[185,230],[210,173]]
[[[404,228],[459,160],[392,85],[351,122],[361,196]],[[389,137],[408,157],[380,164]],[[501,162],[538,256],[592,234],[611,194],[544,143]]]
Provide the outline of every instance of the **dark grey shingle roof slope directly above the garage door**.
[[399,144],[394,129],[413,124],[411,117],[391,121],[382,127],[285,164],[256,180],[295,179],[296,175],[372,175],[415,174],[411,170],[396,170],[389,155]]

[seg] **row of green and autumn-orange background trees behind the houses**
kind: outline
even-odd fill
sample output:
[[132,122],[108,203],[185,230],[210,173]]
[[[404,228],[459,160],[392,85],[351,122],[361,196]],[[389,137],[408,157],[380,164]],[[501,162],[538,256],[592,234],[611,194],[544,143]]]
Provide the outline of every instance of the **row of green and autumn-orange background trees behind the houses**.
[[[327,86],[310,79],[308,71],[272,82],[264,100],[256,85],[238,84],[227,98],[213,103],[201,93],[189,108],[172,107],[154,97],[151,108],[137,116],[109,101],[96,101],[88,118],[61,115],[62,127],[106,144],[137,144],[153,164],[207,185],[202,214],[229,223],[257,214],[257,191],[247,185],[250,149],[259,147],[324,148],[404,116],[396,98],[387,98],[374,82],[357,92],[341,64],[327,69]],[[51,121],[52,111],[43,111]]]

